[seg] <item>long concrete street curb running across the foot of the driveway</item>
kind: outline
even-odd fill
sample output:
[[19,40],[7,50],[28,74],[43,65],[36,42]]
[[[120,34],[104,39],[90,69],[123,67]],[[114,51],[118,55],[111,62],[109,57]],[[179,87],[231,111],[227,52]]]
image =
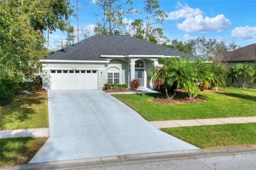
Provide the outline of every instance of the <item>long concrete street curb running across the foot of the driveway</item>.
[[3,169],[76,169],[76,168],[88,168],[95,166],[107,166],[116,164],[132,164],[141,162],[153,162],[157,160],[170,160],[170,159],[186,159],[186,158],[199,158],[199,157],[211,157],[233,154],[250,154],[256,153],[256,145],[244,146],[244,147],[223,147],[215,149],[195,149],[195,150],[179,150],[169,152],[155,152],[149,154],[134,154],[134,155],[122,155],[122,156],[110,156],[99,158],[87,158],[87,159],[74,159],[74,160],[62,160],[58,162],[46,162],[18,165],[12,167],[2,167]]

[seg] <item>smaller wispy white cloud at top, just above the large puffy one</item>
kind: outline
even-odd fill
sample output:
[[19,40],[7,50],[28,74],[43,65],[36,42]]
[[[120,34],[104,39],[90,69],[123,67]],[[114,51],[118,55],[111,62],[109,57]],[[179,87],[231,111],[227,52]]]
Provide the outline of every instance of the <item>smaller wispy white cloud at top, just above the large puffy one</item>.
[[172,11],[168,14],[167,20],[178,20],[180,18],[190,18],[196,15],[202,15],[203,11],[201,11],[199,8],[191,8],[188,6],[188,4],[181,4],[178,2],[178,8],[177,11]]

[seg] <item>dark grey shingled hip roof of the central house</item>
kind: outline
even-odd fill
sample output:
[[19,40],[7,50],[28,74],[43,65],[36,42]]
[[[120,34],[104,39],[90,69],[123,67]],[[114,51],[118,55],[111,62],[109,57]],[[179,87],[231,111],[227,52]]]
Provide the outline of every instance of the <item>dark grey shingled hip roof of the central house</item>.
[[94,35],[42,59],[105,61],[101,55],[164,55],[195,58],[193,55],[134,37]]

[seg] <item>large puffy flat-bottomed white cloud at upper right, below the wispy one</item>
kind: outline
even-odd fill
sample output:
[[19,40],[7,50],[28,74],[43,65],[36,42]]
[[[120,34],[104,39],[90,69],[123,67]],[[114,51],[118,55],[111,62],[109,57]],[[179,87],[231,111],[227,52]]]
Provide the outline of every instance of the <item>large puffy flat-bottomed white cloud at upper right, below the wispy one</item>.
[[213,18],[208,16],[203,18],[203,15],[196,15],[178,23],[177,28],[186,32],[222,31],[227,29],[230,24],[229,19],[226,19],[223,14]]

